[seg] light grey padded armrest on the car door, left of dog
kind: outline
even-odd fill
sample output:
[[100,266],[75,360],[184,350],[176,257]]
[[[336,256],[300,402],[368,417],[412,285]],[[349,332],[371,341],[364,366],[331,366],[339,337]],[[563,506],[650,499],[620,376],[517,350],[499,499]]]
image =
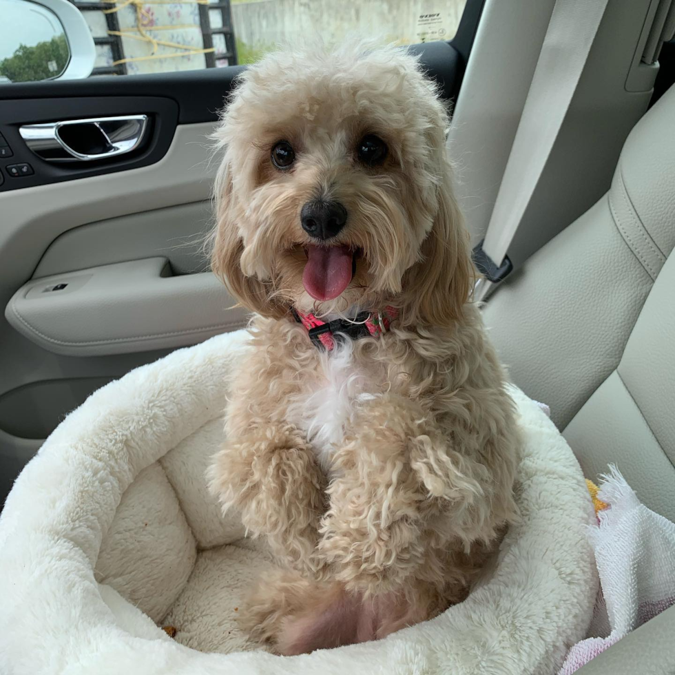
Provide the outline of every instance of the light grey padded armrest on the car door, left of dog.
[[144,258],[38,278],[14,293],[8,322],[57,354],[90,356],[194,344],[245,322],[211,272],[175,276]]

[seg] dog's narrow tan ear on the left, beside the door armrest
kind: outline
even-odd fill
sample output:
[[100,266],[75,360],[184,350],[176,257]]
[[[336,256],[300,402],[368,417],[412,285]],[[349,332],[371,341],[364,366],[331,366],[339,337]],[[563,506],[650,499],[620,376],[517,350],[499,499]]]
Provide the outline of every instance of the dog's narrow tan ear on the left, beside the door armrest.
[[271,286],[241,269],[244,242],[237,227],[238,209],[233,195],[232,176],[227,157],[216,178],[216,229],[211,239],[211,269],[222,280],[238,304],[267,317],[280,318],[287,309],[273,300]]

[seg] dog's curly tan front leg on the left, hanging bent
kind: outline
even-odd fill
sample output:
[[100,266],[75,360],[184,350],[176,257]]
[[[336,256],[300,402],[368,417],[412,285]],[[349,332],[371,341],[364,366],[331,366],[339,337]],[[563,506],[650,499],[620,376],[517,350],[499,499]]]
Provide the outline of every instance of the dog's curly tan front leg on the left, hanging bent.
[[234,507],[253,536],[291,567],[316,572],[324,477],[312,448],[293,427],[268,427],[227,443],[209,470],[224,510]]

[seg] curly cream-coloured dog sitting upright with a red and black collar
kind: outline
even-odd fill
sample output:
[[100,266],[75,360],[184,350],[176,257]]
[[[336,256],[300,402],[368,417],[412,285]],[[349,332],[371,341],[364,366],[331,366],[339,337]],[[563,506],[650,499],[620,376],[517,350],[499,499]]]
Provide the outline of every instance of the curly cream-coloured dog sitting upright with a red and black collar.
[[448,119],[413,54],[349,44],[265,56],[222,112],[211,261],[255,315],[209,481],[280,563],[240,612],[279,654],[433,618],[517,518]]

